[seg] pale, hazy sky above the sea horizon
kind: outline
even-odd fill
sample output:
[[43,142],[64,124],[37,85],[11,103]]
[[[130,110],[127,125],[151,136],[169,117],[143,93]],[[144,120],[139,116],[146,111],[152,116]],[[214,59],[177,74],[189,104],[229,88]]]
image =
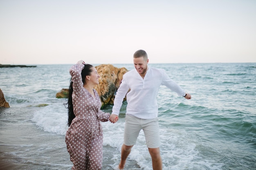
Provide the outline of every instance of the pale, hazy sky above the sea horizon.
[[0,0],[0,64],[256,62],[256,0]]

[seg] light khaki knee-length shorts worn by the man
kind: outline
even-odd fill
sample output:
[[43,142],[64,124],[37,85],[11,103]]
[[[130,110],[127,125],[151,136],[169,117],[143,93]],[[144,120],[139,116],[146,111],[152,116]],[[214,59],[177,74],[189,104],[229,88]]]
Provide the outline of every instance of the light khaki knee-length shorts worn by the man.
[[124,126],[124,144],[132,146],[136,143],[140,130],[143,129],[148,148],[159,148],[160,136],[158,118],[139,119],[126,115]]

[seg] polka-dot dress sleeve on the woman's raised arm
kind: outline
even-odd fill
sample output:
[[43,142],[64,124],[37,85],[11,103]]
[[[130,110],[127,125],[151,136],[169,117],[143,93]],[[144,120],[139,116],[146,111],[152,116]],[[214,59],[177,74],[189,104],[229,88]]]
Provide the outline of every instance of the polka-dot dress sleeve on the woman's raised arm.
[[81,72],[84,68],[83,64],[76,64],[70,68],[70,75],[71,80],[73,82],[73,94],[79,96],[82,88],[83,88],[83,81],[81,77]]

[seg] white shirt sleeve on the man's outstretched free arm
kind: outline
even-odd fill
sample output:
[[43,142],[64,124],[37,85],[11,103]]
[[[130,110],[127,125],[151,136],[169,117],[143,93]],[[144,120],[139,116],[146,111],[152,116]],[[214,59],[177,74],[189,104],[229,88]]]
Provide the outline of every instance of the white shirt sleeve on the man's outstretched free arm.
[[176,92],[179,96],[186,95],[186,92],[176,83],[174,82],[164,70],[162,70],[162,84],[166,87],[170,88],[172,91]]

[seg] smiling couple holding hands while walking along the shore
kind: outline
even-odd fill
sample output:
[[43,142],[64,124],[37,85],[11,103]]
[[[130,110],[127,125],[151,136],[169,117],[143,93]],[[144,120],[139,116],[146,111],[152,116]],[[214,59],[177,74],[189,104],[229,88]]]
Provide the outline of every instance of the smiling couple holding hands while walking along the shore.
[[[99,84],[99,74],[90,64],[79,61],[70,68],[70,93],[68,99],[68,125],[66,133],[67,151],[73,162],[72,170],[101,170],[103,131],[100,121],[115,123],[127,93],[124,144],[121,161],[117,169],[124,169],[132,146],[141,129],[144,130],[153,170],[162,170],[160,137],[158,126],[157,93],[165,85],[178,95],[191,99],[179,85],[168,77],[163,69],[148,67],[148,56],[144,50],[133,55],[135,69],[124,74],[115,95],[112,114],[100,110],[101,100],[94,85]],[[73,107],[74,106],[74,107]]]

